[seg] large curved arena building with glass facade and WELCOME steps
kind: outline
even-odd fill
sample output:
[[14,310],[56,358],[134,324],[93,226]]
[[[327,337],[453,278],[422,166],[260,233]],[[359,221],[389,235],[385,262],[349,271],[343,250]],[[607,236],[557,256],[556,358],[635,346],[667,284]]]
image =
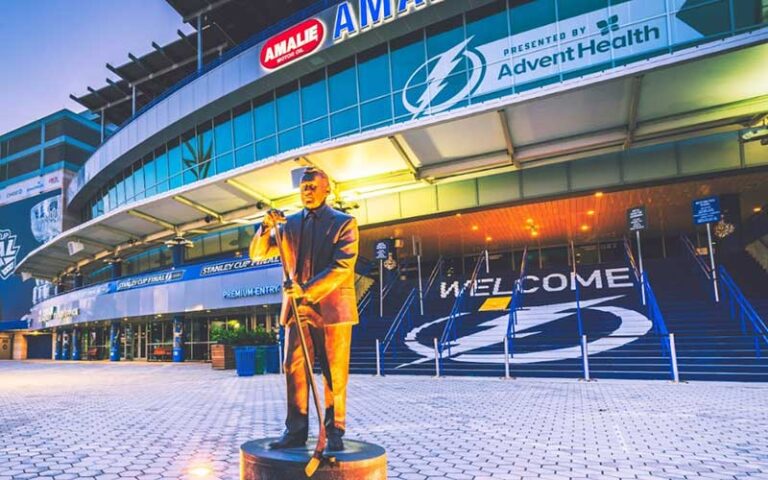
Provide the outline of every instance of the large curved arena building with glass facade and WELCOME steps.
[[[316,166],[361,226],[359,371],[375,352],[414,373],[440,357],[558,374],[624,351],[605,372],[661,375],[669,333],[721,323],[759,360],[765,0],[169,3],[194,35],[73,96],[106,138],[62,192],[73,220],[15,263],[56,286],[19,336],[53,334],[57,358],[182,361],[209,358],[213,326],[277,328],[280,269],[247,245]],[[701,285],[674,271],[692,317],[721,296],[757,299],[754,316],[686,323],[665,300],[680,262],[701,269]],[[717,278],[728,262],[736,279]],[[656,363],[636,360],[646,344]],[[701,373],[740,362],[715,363]]]

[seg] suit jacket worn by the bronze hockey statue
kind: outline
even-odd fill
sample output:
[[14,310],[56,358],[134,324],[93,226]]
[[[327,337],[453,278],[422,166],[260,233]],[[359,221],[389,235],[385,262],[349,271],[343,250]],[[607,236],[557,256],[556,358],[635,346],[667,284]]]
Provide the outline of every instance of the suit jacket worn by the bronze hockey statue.
[[[301,241],[301,221],[305,210],[286,217],[281,225],[283,262],[292,275]],[[359,247],[357,221],[351,215],[325,205],[316,211],[314,251],[312,265],[314,275],[304,282],[308,302],[299,306],[299,315],[321,322],[324,326],[342,323],[358,323],[357,297],[355,296],[355,262]],[[251,242],[250,257],[265,260],[278,255],[277,241],[273,232],[262,225]],[[291,315],[289,298],[283,296],[280,323],[285,325]],[[317,318],[319,315],[320,318]]]

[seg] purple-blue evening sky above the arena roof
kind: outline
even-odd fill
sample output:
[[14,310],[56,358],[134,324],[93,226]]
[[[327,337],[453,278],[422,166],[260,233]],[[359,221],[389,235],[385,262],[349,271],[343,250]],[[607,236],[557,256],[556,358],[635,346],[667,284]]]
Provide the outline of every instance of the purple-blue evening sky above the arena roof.
[[193,31],[164,0],[0,0],[0,135],[117,79],[129,61]]

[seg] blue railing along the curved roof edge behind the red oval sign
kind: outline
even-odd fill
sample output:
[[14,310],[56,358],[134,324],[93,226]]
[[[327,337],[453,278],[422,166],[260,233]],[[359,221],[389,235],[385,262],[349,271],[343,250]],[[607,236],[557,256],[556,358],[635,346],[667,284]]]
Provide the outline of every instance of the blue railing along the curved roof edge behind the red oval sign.
[[[270,37],[282,32],[283,30],[291,27],[292,25],[295,25],[302,20],[306,20],[313,15],[317,15],[318,13],[322,12],[323,10],[330,8],[338,3],[341,3],[342,0],[318,0],[317,2],[313,3],[312,5],[309,5],[308,7],[303,8],[302,10],[299,10],[298,12],[289,15],[288,17],[285,17],[284,19],[280,20],[277,23],[274,23],[270,25],[269,27],[265,28],[264,30],[254,34],[247,40],[245,40],[243,43],[237,45],[236,47],[228,50],[226,53],[221,55],[220,57],[217,57],[210,63],[207,63],[206,65],[203,65],[203,68],[200,70],[195,71],[194,73],[191,73],[187,75],[186,77],[182,78],[178,82],[176,82],[175,85],[171,86],[164,92],[162,92],[157,97],[153,98],[149,101],[146,105],[141,107],[139,110],[136,111],[128,120],[123,122],[115,131],[111,133],[111,135],[116,134],[123,128],[125,128],[126,125],[130,124],[132,121],[134,121],[136,118],[141,116],[143,113],[145,113],[150,108],[154,107],[158,103],[162,102],[166,98],[170,97],[177,91],[181,90],[186,85],[189,85],[197,78],[202,77],[206,73],[210,72],[214,68],[218,67],[219,65],[223,64],[224,62],[231,60],[238,56],[239,54],[243,53],[244,51],[248,50],[249,48],[253,47],[254,45],[258,45],[259,43],[269,39]],[[199,34],[199,32],[198,32]]]

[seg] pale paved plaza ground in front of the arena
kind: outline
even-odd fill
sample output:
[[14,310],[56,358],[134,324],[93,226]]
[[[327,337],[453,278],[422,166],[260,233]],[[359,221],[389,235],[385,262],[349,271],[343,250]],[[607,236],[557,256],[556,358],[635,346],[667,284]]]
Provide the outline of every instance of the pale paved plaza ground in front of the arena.
[[[353,376],[389,478],[768,479],[768,385]],[[206,364],[0,362],[0,480],[237,479],[283,380]]]

